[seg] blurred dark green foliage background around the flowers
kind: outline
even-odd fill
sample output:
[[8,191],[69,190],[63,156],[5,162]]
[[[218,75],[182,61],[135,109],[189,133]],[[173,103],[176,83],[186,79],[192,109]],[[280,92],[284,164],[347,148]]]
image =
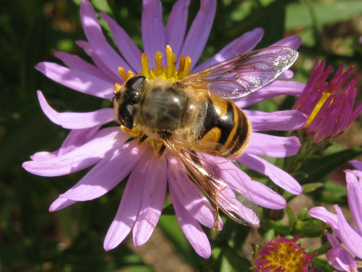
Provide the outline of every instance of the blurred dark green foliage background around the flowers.
[[[142,48],[142,1],[91,1],[96,11],[111,15]],[[174,1],[164,0],[164,21]],[[68,131],[42,113],[36,90],[42,90],[57,111],[85,112],[109,106],[109,101],[70,90],[34,69],[41,61],[59,62],[56,51],[89,57],[74,41],[85,40],[80,0],[0,0],[0,271],[226,271],[222,263],[203,260],[186,240],[172,211],[161,216],[150,242],[136,249],[127,239],[105,252],[103,239],[117,211],[124,182],[99,199],[49,213],[50,204],[87,172],[64,177],[39,177],[21,164],[38,151],[58,149]],[[199,8],[191,1],[189,24]],[[104,21],[106,36],[109,30]],[[361,0],[289,1],[220,0],[202,59],[256,27],[265,35],[258,48],[297,34],[300,57],[293,66],[295,80],[305,83],[316,59],[327,59],[334,70],[341,62],[361,74]],[[110,38],[111,41],[111,38]],[[361,80],[357,83],[361,90]],[[357,100],[361,101],[361,92]],[[261,110],[276,110],[276,101]],[[284,104],[285,105],[285,104]],[[361,119],[342,136],[337,147],[361,146]],[[356,136],[357,135],[357,136]],[[226,227],[232,229],[233,222]],[[213,254],[227,255],[223,232],[213,237]],[[243,247],[249,228],[240,226],[237,247]],[[216,237],[215,237],[216,236]],[[234,239],[235,240],[235,239]],[[235,246],[235,245],[234,245]],[[177,251],[175,250],[177,248]],[[230,261],[230,260],[229,260]],[[238,260],[243,261],[243,259]],[[160,270],[161,269],[161,270]]]

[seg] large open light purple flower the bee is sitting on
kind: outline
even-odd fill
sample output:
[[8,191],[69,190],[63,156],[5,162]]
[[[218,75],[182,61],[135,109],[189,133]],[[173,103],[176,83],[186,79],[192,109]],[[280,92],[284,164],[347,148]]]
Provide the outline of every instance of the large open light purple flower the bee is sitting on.
[[[158,69],[164,67],[172,66],[174,69],[180,66],[181,72],[186,75],[186,72],[192,73],[247,53],[261,40],[262,29],[254,29],[195,67],[210,33],[216,11],[216,0],[201,0],[201,8],[186,34],[188,6],[189,0],[177,1],[164,28],[161,2],[143,1],[142,39],[145,54],[142,54],[121,26],[108,15],[100,13],[100,16],[108,22],[121,57],[106,41],[92,5],[87,0],[82,0],[80,16],[87,41],[77,41],[76,44],[85,50],[95,65],[85,62],[76,55],[57,52],[56,57],[68,67],[42,62],[35,68],[54,81],[74,90],[112,99],[115,83],[123,84],[124,79],[133,74],[158,73]],[[160,52],[164,52],[167,45],[172,48],[171,56],[175,57],[176,63],[167,62],[171,57],[160,57]],[[292,36],[274,45],[296,49],[300,45],[300,38]],[[153,59],[152,56],[155,54],[156,58]],[[188,62],[188,67],[182,55],[189,56],[192,60]],[[146,61],[149,62],[148,65]],[[122,68],[119,69],[120,66]],[[291,76],[290,71],[283,73],[284,78]],[[274,81],[257,92],[239,99],[236,104],[247,107],[280,94],[298,95],[302,89],[303,85],[300,83]],[[103,124],[117,120],[114,110],[110,108],[85,113],[58,113],[47,104],[41,91],[38,91],[38,98],[43,112],[51,121],[72,130],[59,150],[35,153],[31,156],[32,161],[24,162],[23,167],[40,176],[60,176],[94,165],[75,186],[52,203],[50,211],[62,209],[77,201],[100,197],[131,172],[119,209],[105,237],[105,250],[117,247],[131,230],[135,246],[147,242],[159,220],[168,184],[176,216],[186,237],[199,255],[205,258],[210,256],[210,243],[199,223],[209,228],[218,226],[221,229],[222,222],[221,220],[215,222],[214,208],[197,185],[190,181],[184,167],[173,156],[166,155],[157,159],[149,145],[138,145],[136,140],[127,141],[132,135],[122,131],[118,125],[101,128]],[[294,155],[300,147],[299,140],[296,137],[270,136],[257,131],[296,129],[305,123],[306,116],[295,110],[273,113],[245,110],[245,113],[252,123],[253,132],[247,149],[236,160],[270,177],[283,189],[300,194],[302,188],[294,178],[259,157]],[[267,186],[253,181],[231,161],[206,154],[199,156],[218,163],[217,170],[222,172],[222,178],[226,182],[222,196],[233,204],[229,209],[248,224],[258,225],[259,220],[252,207],[243,206],[236,201],[235,194],[230,188],[236,189],[248,201],[263,207],[282,209],[286,206],[283,197]]]

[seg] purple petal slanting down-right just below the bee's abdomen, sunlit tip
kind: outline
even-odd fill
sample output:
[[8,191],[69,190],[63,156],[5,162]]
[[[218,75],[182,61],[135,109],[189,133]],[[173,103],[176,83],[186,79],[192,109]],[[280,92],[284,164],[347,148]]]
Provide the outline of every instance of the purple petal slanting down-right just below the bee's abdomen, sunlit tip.
[[268,176],[275,184],[292,194],[301,194],[302,187],[290,174],[270,162],[254,155],[242,154],[236,159],[246,167]]

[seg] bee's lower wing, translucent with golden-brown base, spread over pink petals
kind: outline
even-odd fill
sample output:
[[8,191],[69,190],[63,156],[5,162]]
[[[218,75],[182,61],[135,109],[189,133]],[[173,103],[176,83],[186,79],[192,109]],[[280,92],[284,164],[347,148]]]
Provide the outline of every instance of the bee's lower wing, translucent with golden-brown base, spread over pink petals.
[[[236,169],[230,169],[229,164],[228,169],[223,167],[226,166],[226,162],[230,162],[229,160],[220,158],[222,161],[210,161],[176,142],[173,143],[172,140],[164,140],[164,144],[187,171],[190,179],[214,204],[215,229],[219,228],[218,209],[241,224],[247,226],[259,224],[258,207],[251,201],[248,186],[244,185],[240,176],[235,180],[235,176],[239,175]],[[210,157],[219,158],[211,155]],[[230,175],[230,171],[235,172]],[[239,185],[233,186],[238,183]]]

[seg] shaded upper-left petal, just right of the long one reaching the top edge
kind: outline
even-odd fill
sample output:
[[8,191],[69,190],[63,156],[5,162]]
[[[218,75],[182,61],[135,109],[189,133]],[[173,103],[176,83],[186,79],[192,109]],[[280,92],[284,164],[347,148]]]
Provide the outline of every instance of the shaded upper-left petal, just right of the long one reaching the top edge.
[[111,17],[101,12],[101,17],[108,22],[113,39],[121,52],[123,58],[132,66],[136,73],[141,72],[141,55],[142,51],[135,45],[126,31],[121,28]]

